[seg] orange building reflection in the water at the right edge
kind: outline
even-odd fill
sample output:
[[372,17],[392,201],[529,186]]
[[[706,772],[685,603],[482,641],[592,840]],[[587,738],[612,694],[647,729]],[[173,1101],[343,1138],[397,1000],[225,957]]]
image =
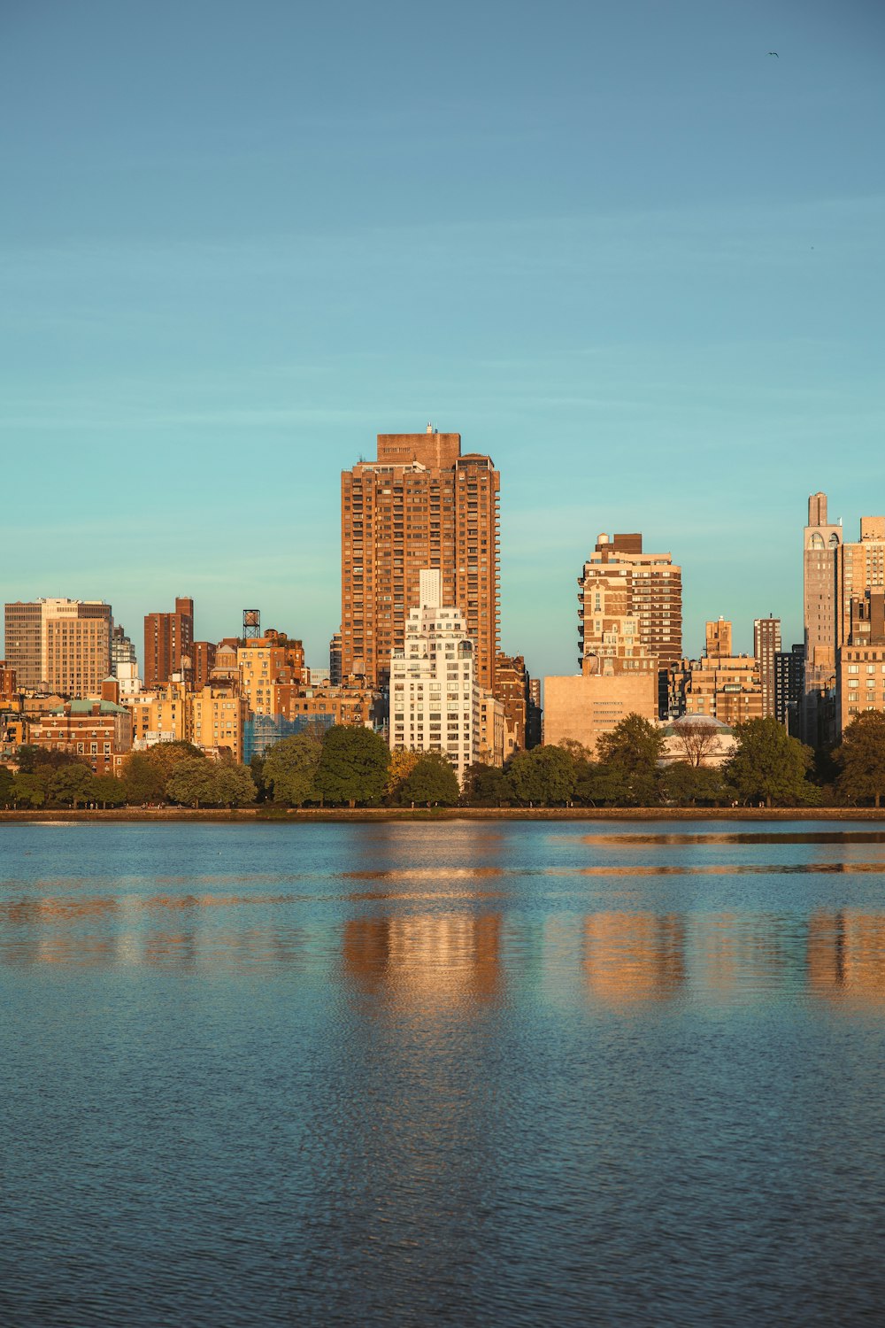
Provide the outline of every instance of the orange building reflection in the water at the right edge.
[[885,914],[819,908],[808,920],[808,985],[816,996],[885,1001]]

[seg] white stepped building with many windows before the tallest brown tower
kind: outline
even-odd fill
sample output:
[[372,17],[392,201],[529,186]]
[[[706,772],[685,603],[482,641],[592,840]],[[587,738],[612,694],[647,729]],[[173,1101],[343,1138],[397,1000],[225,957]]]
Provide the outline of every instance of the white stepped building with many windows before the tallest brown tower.
[[390,659],[390,746],[444,752],[463,784],[479,758],[479,652],[460,611],[443,607],[442,580],[438,567],[421,570],[418,607]]

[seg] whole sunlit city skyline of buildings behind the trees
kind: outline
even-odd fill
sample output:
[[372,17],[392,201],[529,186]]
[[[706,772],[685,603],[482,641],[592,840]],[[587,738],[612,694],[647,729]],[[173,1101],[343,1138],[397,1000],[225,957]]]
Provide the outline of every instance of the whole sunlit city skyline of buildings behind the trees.
[[[375,461],[341,475],[341,624],[310,668],[300,639],[261,628],[198,640],[195,606],[145,615],[135,643],[103,600],[5,606],[0,758],[24,742],[81,756],[97,774],[158,742],[188,741],[249,762],[309,725],[365,725],[394,750],[443,753],[463,782],[476,762],[577,742],[589,752],[628,714],[665,726],[678,750],[723,760],[735,724],[774,716],[813,746],[865,709],[885,710],[885,518],[845,540],[827,497],[808,502],[804,640],[754,623],[736,655],[731,623],[682,648],[682,568],[642,535],[601,534],[579,576],[579,672],[532,677],[499,648],[499,490],[490,457],[460,436],[378,434]],[[715,741],[709,734],[715,733]],[[707,737],[705,737],[707,734]],[[673,748],[677,742],[677,748]]]

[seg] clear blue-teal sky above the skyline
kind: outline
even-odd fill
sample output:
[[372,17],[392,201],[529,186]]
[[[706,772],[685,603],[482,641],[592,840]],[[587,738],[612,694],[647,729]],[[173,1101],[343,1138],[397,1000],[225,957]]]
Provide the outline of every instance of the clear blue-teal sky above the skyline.
[[600,531],[788,648],[808,494],[885,513],[884,74],[876,0],[3,0],[0,598],[325,665],[340,471],[433,421],[533,675]]

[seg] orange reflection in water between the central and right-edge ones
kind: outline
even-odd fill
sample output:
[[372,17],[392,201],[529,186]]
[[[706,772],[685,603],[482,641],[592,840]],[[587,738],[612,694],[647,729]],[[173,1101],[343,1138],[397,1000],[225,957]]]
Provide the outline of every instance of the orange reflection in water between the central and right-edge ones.
[[671,1000],[686,980],[681,914],[597,912],[584,919],[589,992],[613,1005]]

